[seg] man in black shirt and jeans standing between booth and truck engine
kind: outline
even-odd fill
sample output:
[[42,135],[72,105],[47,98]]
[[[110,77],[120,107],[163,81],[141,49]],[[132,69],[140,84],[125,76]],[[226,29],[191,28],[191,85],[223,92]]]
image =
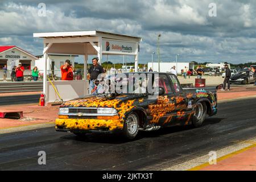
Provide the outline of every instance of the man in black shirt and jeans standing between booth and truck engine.
[[94,80],[98,78],[98,75],[101,73],[104,73],[104,69],[101,67],[100,64],[98,64],[98,57],[94,57],[92,59],[92,66],[89,68],[89,74],[90,74],[90,93],[92,93],[92,90],[94,89]]

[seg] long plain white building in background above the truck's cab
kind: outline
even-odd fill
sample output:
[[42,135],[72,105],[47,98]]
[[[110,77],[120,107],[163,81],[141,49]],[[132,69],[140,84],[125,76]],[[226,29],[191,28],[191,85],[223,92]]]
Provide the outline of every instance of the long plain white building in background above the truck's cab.
[[[195,63],[191,62],[161,62],[160,63],[160,72],[170,72],[171,68],[175,66],[177,73],[181,73],[181,69],[184,69],[185,67],[188,69],[193,69],[195,66]],[[150,68],[153,69],[154,72],[158,72],[158,62],[148,62],[147,63],[147,69],[149,70]]]

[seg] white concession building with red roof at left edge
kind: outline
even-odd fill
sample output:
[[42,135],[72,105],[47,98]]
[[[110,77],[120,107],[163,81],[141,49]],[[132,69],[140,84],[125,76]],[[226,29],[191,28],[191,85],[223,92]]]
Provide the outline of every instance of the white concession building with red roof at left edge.
[[31,75],[37,57],[16,46],[0,46],[0,79],[3,78],[2,68],[7,65],[7,79],[11,77],[14,65],[22,63],[25,68],[24,75]]

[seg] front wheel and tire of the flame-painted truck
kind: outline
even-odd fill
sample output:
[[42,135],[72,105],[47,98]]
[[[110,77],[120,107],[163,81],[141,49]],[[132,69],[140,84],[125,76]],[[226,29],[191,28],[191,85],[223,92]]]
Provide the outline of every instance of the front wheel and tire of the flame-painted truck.
[[126,115],[125,123],[123,124],[123,136],[126,139],[134,139],[139,131],[139,117],[135,112]]

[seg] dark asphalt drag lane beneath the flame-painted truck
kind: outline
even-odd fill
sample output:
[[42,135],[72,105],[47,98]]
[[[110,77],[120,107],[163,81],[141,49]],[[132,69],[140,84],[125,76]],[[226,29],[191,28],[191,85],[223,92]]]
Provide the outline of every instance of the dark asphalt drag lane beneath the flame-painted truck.
[[[105,134],[81,139],[54,128],[4,134],[0,170],[160,170],[255,137],[255,102],[222,102],[200,128],[141,132],[133,142]],[[46,152],[46,165],[38,164],[39,151]]]

